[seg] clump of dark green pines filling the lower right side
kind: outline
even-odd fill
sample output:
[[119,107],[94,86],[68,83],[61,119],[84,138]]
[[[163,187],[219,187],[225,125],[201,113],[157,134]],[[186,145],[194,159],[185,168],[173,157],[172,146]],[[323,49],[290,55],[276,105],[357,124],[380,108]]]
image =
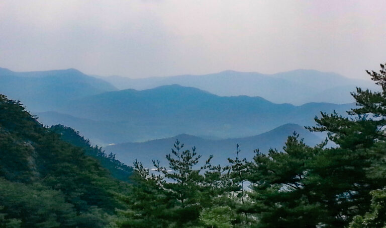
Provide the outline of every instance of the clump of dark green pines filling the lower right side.
[[310,147],[294,135],[283,152],[256,154],[249,168],[256,227],[344,227],[358,214],[356,223],[384,216],[374,208],[381,208],[386,183],[386,69],[368,73],[381,92],[357,88],[353,118],[322,113],[310,127],[327,131],[337,147]]

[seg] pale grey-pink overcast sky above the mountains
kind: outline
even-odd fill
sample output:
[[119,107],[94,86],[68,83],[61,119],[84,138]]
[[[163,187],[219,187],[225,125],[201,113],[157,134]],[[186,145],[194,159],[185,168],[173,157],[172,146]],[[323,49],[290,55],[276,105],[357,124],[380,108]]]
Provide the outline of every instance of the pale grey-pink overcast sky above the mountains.
[[0,67],[146,78],[386,62],[386,1],[2,0]]

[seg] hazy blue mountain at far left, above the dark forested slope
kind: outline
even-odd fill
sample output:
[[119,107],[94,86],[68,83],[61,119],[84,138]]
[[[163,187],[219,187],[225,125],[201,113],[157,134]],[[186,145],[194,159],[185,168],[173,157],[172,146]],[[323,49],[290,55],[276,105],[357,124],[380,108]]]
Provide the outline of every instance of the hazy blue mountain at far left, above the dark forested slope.
[[0,68],[0,94],[21,100],[31,111],[52,111],[64,102],[117,90],[76,69],[14,72]]

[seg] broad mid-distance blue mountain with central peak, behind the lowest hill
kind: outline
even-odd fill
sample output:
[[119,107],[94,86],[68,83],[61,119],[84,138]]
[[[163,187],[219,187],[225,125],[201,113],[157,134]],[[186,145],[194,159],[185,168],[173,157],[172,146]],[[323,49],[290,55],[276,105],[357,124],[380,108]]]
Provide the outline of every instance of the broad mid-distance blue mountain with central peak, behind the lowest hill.
[[[178,85],[88,96],[56,113],[39,113],[44,124],[64,124],[102,143],[146,141],[181,133],[220,138],[245,137],[286,123],[314,125],[314,117],[354,104],[275,104],[261,97],[221,97]],[[65,114],[65,115],[63,115]],[[92,135],[92,137],[91,137]]]

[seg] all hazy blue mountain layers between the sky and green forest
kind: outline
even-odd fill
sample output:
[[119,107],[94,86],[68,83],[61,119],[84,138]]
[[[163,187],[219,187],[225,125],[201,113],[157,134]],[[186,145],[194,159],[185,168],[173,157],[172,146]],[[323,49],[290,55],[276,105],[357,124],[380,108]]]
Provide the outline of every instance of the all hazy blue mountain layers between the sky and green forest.
[[[93,77],[76,69],[0,68],[0,82],[0,93],[21,100],[42,124],[72,127],[120,161],[130,165],[138,159],[149,167],[151,160],[162,159],[175,139],[197,146],[204,155],[217,155],[215,161],[221,164],[234,154],[237,143],[248,158],[254,149],[266,153],[281,148],[294,132],[315,145],[326,135],[304,126],[315,125],[320,112],[335,110],[346,116],[346,110],[355,107],[352,98],[339,96],[345,92],[342,88],[375,87],[316,70],[273,75],[228,70],[133,80]],[[328,101],[329,96],[337,104],[304,103]]]

